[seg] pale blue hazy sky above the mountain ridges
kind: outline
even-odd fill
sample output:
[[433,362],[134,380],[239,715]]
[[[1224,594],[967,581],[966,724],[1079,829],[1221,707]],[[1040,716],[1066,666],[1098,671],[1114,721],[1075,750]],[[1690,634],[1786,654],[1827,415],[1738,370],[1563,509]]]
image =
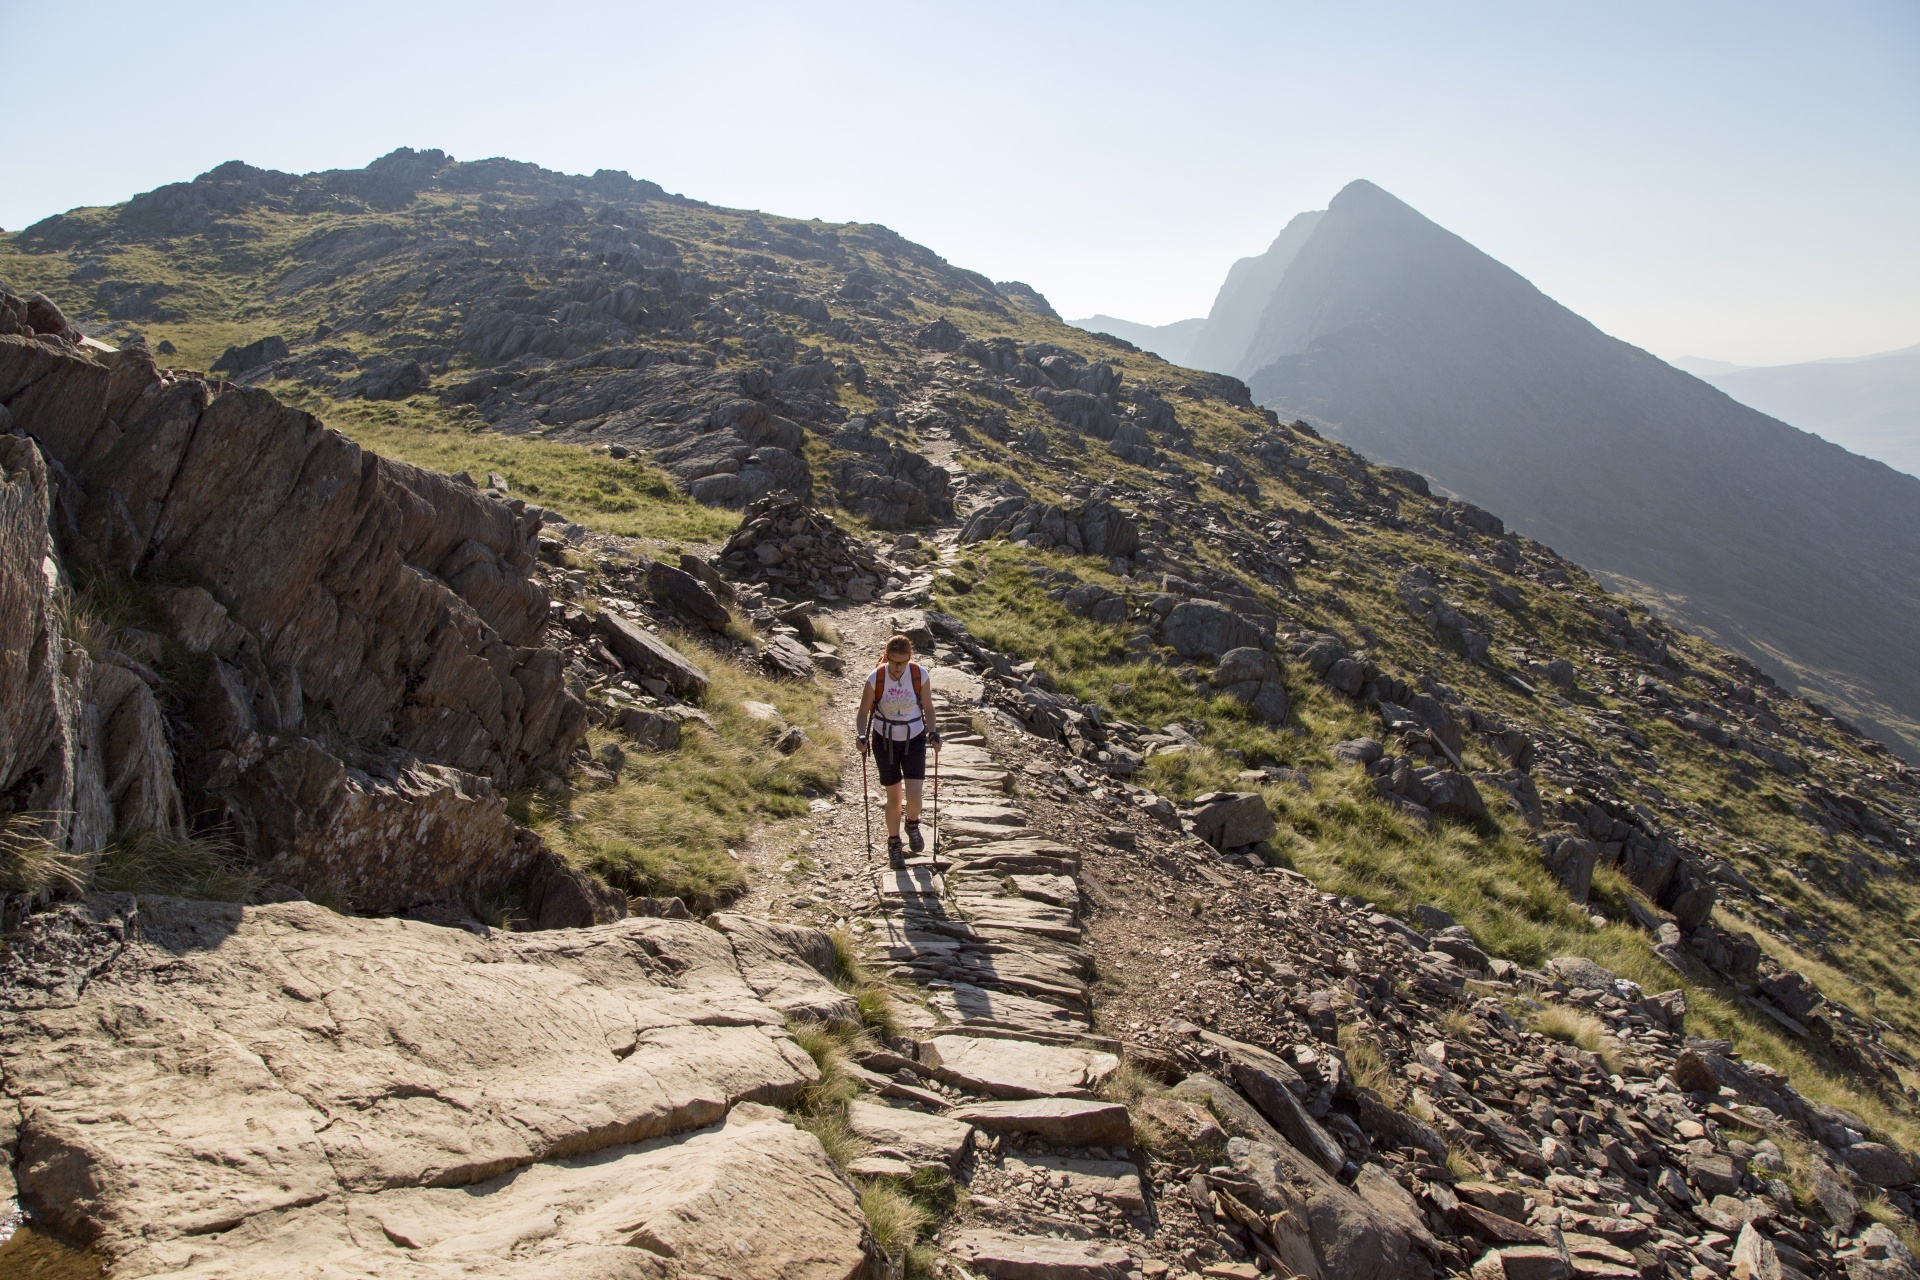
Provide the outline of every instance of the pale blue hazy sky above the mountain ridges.
[[0,0],[0,226],[396,146],[885,223],[1200,315],[1365,177],[1659,355],[1920,342],[1920,4]]

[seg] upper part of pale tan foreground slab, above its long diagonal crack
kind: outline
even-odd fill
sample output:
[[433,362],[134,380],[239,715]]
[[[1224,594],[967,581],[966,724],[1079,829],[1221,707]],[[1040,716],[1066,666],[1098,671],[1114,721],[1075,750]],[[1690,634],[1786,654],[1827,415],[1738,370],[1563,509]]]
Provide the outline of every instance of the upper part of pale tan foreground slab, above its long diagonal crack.
[[818,1079],[691,921],[480,938],[98,894],[35,915],[4,965],[21,1196],[115,1259],[701,1128]]

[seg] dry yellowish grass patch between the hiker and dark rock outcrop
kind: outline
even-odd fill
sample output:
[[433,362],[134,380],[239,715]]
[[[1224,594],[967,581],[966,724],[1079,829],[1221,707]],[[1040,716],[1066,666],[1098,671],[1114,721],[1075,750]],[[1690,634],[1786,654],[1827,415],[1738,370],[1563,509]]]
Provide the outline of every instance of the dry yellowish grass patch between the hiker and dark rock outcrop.
[[[705,710],[714,729],[689,722],[676,750],[628,750],[611,787],[524,793],[515,808],[555,852],[622,892],[676,896],[710,912],[745,889],[732,846],[760,823],[804,818],[808,798],[833,791],[839,743],[822,720],[828,695],[820,685],[776,681],[685,637],[662,639],[712,681]],[[747,700],[772,702],[810,741],[791,756],[772,750],[766,725],[741,710]],[[605,729],[588,737],[593,750],[620,741]]]

